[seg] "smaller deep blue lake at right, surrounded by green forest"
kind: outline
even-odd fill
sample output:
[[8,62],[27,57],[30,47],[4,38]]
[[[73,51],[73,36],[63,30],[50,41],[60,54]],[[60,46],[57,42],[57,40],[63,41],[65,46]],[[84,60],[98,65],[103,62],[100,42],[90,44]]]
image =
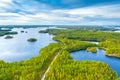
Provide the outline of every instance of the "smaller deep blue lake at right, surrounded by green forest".
[[97,53],[90,53],[86,50],[81,50],[77,52],[70,53],[74,60],[96,60],[102,61],[110,65],[110,67],[117,72],[120,77],[120,59],[108,57],[104,55],[104,50],[97,50]]

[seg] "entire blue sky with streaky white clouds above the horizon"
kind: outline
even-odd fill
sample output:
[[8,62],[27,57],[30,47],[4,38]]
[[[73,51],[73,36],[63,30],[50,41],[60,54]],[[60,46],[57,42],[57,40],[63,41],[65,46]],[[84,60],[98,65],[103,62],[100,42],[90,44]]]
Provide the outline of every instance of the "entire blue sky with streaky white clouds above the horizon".
[[120,25],[120,0],[0,0],[0,25]]

